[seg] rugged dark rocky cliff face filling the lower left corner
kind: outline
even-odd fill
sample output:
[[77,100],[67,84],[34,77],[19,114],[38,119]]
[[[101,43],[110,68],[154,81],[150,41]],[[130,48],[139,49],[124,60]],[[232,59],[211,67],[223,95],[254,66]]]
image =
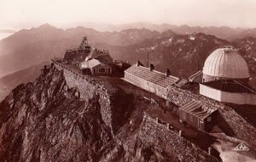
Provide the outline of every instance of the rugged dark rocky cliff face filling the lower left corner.
[[97,160],[111,148],[98,101],[76,93],[56,69],[16,87],[0,105],[1,161]]

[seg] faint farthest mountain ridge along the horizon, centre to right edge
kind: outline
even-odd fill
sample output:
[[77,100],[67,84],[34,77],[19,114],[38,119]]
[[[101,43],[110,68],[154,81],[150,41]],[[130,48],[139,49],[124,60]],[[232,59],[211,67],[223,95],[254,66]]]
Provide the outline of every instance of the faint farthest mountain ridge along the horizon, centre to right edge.
[[194,32],[201,32],[207,35],[217,36],[222,39],[232,41],[237,38],[243,38],[246,36],[256,37],[256,28],[231,28],[229,26],[189,26],[189,25],[171,25],[171,24],[153,24],[148,22],[137,22],[122,25],[111,24],[99,24],[99,23],[80,23],[79,25],[90,26],[98,31],[123,31],[126,29],[148,29],[151,31],[163,32],[166,30],[172,30],[177,34],[192,34]]

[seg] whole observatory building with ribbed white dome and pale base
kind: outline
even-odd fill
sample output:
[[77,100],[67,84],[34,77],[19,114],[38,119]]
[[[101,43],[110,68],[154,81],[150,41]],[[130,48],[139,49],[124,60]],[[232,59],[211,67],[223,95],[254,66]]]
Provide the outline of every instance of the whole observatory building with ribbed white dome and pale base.
[[233,47],[212,51],[202,70],[200,94],[224,103],[256,105],[256,90],[247,85],[247,62]]

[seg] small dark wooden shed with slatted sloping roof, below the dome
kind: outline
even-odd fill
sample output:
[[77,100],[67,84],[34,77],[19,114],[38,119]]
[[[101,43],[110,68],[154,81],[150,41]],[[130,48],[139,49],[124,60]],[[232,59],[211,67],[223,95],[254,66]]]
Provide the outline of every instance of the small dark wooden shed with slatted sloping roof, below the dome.
[[215,123],[217,109],[206,103],[192,100],[180,107],[178,112],[181,121],[202,131],[208,131]]

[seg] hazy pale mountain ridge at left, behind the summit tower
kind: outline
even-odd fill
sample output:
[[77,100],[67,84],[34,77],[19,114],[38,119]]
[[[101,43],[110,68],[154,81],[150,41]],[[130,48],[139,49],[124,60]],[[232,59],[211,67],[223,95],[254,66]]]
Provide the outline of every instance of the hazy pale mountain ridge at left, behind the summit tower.
[[99,32],[84,27],[64,31],[48,24],[21,30],[0,41],[0,76],[62,57],[67,48],[79,47],[83,36],[88,36],[92,46],[97,43],[118,47],[136,44],[160,36],[160,33],[147,29]]

